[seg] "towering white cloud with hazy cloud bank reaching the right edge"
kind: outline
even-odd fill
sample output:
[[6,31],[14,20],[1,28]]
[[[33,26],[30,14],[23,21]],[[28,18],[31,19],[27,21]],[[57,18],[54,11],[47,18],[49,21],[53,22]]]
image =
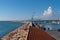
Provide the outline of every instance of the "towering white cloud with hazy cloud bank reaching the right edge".
[[43,12],[42,16],[35,16],[35,19],[40,20],[60,20],[60,12],[56,12],[52,10],[52,7],[48,7],[47,10]]

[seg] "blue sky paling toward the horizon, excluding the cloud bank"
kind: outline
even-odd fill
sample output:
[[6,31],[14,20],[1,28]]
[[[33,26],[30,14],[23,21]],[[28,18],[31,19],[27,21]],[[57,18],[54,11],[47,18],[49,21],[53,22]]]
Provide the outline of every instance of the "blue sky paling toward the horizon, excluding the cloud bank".
[[32,15],[44,18],[49,7],[50,11],[60,12],[60,0],[0,0],[0,20],[27,20]]

